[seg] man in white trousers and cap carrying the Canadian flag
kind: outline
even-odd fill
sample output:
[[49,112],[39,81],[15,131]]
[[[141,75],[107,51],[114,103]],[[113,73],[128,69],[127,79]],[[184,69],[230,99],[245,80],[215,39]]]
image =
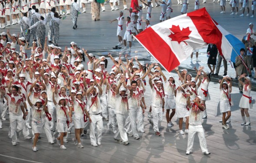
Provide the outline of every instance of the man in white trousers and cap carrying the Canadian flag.
[[188,137],[188,145],[186,149],[186,154],[190,154],[193,148],[194,137],[197,133],[199,137],[200,147],[202,152],[205,155],[211,154],[208,152],[206,147],[206,139],[204,136],[203,126],[202,126],[202,117],[203,117],[203,110],[205,106],[200,103],[201,96],[196,96],[193,99],[192,103],[190,102],[190,94],[187,95],[187,105],[190,109],[190,118],[189,118],[189,137]]

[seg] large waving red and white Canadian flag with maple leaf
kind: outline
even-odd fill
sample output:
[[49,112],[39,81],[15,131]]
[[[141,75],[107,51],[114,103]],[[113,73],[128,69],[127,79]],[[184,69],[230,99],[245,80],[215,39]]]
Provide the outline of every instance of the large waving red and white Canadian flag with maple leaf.
[[194,49],[209,43],[221,48],[222,33],[202,8],[151,26],[136,35],[136,39],[170,72]]

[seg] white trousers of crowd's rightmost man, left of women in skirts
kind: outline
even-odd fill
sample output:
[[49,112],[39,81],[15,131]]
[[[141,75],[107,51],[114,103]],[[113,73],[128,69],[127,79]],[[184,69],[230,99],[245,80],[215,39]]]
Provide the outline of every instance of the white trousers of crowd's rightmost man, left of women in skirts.
[[163,120],[163,109],[162,108],[156,108],[151,105],[152,111],[151,115],[153,116],[153,129],[155,132],[159,132],[159,128],[161,126],[161,122]]

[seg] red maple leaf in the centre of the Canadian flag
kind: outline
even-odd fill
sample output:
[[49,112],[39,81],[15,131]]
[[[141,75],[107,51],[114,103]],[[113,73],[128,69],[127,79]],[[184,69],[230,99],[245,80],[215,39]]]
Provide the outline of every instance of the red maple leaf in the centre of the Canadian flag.
[[172,38],[172,41],[176,41],[180,44],[180,42],[184,42],[186,45],[187,43],[184,40],[189,39],[189,35],[192,31],[190,31],[190,28],[182,28],[180,30],[180,26],[172,26],[172,28],[170,28],[170,30],[172,31],[171,34],[168,36],[170,38]]

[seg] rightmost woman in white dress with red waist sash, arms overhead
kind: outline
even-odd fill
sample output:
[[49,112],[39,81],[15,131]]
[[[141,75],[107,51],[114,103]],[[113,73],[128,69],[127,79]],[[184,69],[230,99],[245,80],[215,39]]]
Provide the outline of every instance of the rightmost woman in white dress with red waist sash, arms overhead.
[[[252,83],[250,77],[245,77],[246,74],[240,75],[238,81],[243,86],[243,96],[240,99],[239,107],[241,108],[241,115],[243,122],[241,125],[251,125],[250,115],[248,113],[248,109],[252,109],[252,96],[250,96]],[[244,79],[244,82],[242,81]],[[246,117],[245,117],[246,115]]]

